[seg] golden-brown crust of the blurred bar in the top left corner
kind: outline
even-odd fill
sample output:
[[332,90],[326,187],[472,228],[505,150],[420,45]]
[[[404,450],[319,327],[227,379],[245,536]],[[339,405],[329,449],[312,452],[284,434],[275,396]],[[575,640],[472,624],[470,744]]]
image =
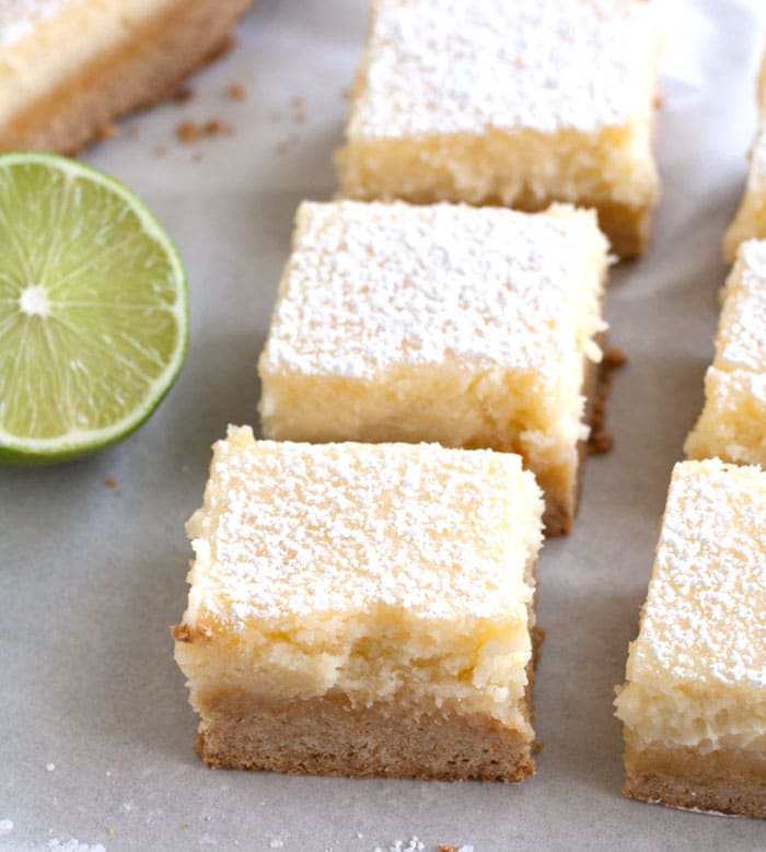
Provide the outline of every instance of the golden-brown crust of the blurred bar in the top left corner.
[[108,136],[115,118],[170,96],[181,80],[225,51],[253,1],[178,0],[5,125],[0,151],[73,154]]

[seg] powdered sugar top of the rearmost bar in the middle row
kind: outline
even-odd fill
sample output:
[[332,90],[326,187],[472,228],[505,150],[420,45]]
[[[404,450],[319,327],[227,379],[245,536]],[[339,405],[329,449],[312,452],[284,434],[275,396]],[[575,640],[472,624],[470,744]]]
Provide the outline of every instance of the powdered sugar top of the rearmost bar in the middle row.
[[639,0],[378,0],[349,138],[594,132],[647,116],[659,34]]

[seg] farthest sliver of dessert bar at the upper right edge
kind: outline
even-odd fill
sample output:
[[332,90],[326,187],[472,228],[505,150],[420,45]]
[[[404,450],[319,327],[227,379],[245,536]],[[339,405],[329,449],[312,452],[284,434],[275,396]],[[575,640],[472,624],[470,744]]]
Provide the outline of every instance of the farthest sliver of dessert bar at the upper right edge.
[[733,264],[745,240],[766,238],[766,54],[758,77],[759,119],[750,152],[750,170],[742,201],[723,237],[723,254]]

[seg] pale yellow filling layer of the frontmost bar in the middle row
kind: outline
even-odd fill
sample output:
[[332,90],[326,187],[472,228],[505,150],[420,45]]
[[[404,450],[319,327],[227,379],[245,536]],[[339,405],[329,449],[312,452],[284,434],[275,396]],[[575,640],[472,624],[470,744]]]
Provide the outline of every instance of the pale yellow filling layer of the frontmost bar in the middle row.
[[248,630],[176,643],[192,703],[237,688],[265,700],[340,693],[353,707],[402,696],[413,713],[484,713],[531,734],[522,708],[532,656],[526,604],[509,606],[504,621],[427,621],[405,610],[302,619],[281,630]]

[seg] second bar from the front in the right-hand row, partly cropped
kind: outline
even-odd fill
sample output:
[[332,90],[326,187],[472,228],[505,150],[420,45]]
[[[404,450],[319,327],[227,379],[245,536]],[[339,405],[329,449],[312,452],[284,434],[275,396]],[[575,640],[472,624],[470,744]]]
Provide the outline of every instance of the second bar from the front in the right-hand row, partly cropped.
[[686,455],[766,467],[766,241],[740,246],[723,290],[705,397]]

